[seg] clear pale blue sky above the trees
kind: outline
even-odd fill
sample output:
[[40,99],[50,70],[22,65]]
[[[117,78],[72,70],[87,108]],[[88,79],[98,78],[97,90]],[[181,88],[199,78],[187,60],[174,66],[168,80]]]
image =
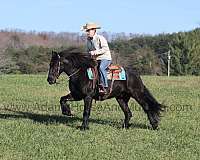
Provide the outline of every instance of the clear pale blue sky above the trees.
[[86,22],[107,32],[188,31],[200,27],[200,0],[0,0],[0,29],[80,32]]

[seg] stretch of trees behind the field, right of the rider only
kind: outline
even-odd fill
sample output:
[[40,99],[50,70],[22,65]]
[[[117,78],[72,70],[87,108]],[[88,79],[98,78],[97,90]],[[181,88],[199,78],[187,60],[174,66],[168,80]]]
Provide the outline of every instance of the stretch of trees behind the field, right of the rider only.
[[200,75],[200,29],[155,36],[141,35],[130,40],[115,40],[111,49],[118,61],[141,74],[166,75],[171,53],[172,75]]

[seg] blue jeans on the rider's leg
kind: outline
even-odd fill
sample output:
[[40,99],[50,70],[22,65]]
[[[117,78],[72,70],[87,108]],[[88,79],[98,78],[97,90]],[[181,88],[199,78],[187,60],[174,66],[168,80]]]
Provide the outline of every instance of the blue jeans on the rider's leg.
[[99,65],[100,82],[104,87],[108,87],[107,71],[106,69],[111,64],[111,60],[102,59]]

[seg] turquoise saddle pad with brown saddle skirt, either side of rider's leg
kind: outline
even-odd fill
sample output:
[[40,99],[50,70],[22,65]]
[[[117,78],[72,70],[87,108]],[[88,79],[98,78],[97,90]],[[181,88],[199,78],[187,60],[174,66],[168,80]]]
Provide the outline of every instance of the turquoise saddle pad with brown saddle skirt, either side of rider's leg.
[[[93,75],[93,72],[92,72],[91,68],[87,69],[87,74],[88,74],[88,78],[90,80],[92,80],[94,78],[94,75]],[[125,72],[123,67],[120,67],[120,71],[119,71],[119,69],[112,70],[112,71],[108,70],[107,78],[108,78],[108,80],[114,79],[114,80],[124,81],[124,80],[126,80],[126,72]]]

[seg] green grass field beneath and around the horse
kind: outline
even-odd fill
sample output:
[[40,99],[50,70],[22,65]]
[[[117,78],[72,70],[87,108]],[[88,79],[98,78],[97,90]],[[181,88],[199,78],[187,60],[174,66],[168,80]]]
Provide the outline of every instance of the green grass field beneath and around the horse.
[[0,75],[0,159],[199,159],[200,77],[142,77],[152,94],[168,106],[160,129],[132,100],[129,130],[115,100],[93,104],[90,130],[81,132],[83,102],[75,117],[61,115],[59,99],[67,81],[49,86],[46,75]]

